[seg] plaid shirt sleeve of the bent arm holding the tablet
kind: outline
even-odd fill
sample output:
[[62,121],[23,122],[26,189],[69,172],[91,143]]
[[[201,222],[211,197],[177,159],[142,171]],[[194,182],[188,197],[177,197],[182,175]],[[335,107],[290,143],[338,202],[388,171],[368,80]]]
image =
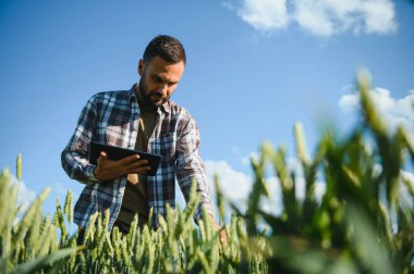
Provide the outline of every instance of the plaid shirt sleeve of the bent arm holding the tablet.
[[62,167],[72,179],[83,184],[101,183],[95,177],[96,165],[89,164],[88,147],[96,132],[97,109],[95,96],[83,108],[75,132],[61,154]]

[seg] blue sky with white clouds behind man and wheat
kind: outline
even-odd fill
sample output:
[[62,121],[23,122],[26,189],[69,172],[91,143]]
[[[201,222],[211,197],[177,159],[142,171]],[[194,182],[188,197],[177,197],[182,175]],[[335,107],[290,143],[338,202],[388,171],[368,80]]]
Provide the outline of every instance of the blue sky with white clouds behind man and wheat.
[[263,140],[293,155],[297,121],[310,151],[327,125],[346,132],[361,67],[387,121],[414,133],[413,12],[403,0],[3,0],[0,167],[14,173],[21,152],[21,199],[49,186],[47,211],[68,189],[78,195],[60,153],[84,103],[129,89],[147,42],[168,34],[187,52],[172,99],[198,122],[208,175],[219,172],[226,194],[241,199],[251,184],[246,159]]

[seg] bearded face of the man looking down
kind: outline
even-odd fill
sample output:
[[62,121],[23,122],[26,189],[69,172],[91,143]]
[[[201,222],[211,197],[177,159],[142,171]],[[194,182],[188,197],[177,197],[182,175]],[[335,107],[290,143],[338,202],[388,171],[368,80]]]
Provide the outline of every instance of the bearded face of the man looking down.
[[139,91],[145,100],[156,107],[167,102],[184,73],[184,62],[168,63],[160,57],[150,62],[139,60]]

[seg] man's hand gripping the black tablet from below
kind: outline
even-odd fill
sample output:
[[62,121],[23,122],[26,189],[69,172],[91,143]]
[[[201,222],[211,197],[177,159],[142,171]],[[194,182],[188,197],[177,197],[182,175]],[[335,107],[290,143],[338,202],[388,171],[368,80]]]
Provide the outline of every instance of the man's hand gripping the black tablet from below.
[[101,151],[94,175],[102,182],[126,174],[145,175],[150,170],[147,163],[147,160],[139,160],[138,154],[113,161],[108,158],[106,152]]

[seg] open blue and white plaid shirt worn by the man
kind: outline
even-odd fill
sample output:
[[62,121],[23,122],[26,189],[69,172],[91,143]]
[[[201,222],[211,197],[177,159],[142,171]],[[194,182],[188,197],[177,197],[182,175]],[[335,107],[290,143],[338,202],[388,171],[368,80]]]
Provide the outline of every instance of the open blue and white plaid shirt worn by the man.
[[[156,216],[167,212],[167,203],[175,207],[175,176],[186,201],[193,178],[197,180],[202,201],[194,217],[200,217],[202,205],[214,215],[195,120],[171,101],[158,108],[158,117],[148,141],[148,152],[162,155],[157,174],[147,177],[148,203],[154,208],[153,224],[158,226]],[[92,214],[109,209],[109,229],[112,229],[126,185],[126,175],[106,183],[94,176],[96,166],[87,159],[89,141],[134,149],[138,122],[134,86],[130,90],[99,92],[82,110],[61,159],[68,175],[86,185],[74,209],[74,222],[78,226],[86,227]]]

